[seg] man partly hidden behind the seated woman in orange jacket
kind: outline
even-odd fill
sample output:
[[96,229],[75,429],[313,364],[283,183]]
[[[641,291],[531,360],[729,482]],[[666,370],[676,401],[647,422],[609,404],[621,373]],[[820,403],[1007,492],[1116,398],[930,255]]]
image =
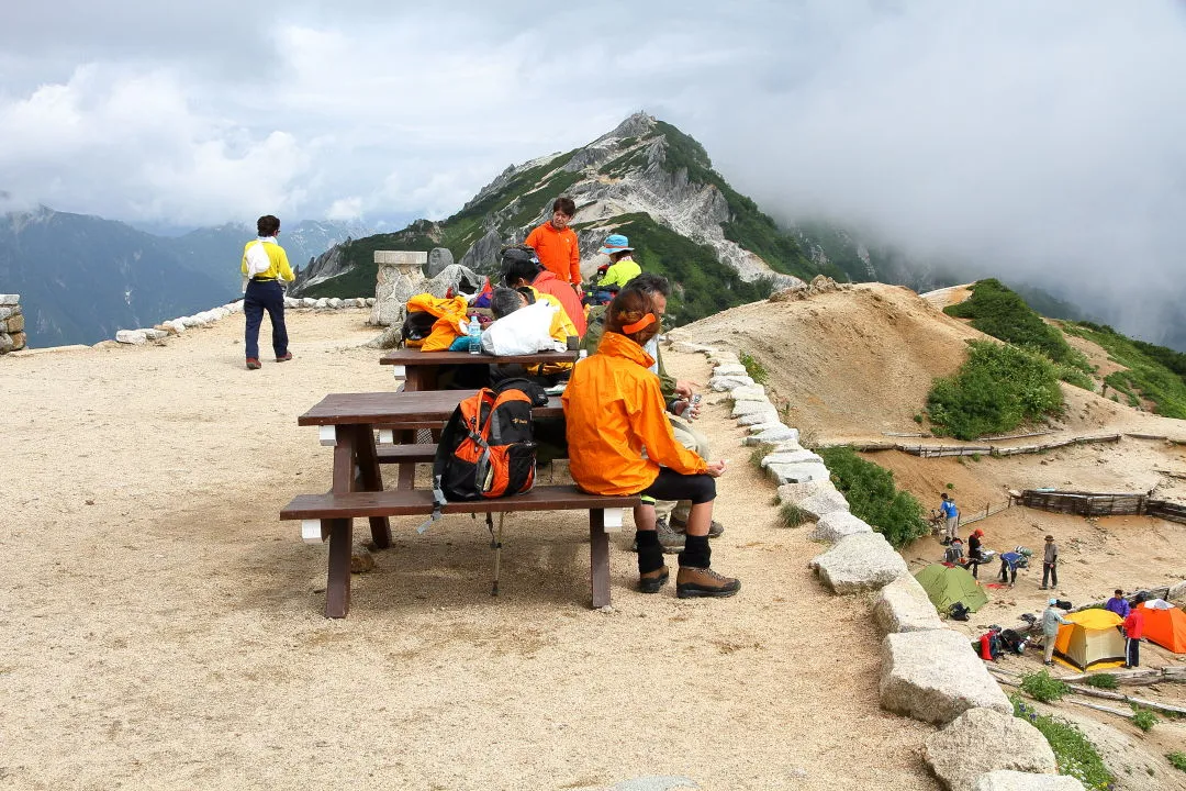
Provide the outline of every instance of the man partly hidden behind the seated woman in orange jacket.
[[[671,283],[663,275],[655,273],[643,273],[627,283],[627,288],[638,288],[646,293],[655,305],[655,311],[662,318],[667,312],[667,300],[671,295]],[[595,352],[601,333],[605,328],[605,314],[595,317],[585,336],[585,349]],[[693,451],[701,459],[708,459],[710,448],[708,438],[693,426],[691,421],[700,413],[700,406],[693,404],[695,395],[695,383],[688,379],[676,378],[667,372],[663,366],[663,352],[658,345],[658,337],[651,338],[646,343],[646,353],[655,359],[651,372],[659,377],[659,391],[663,394],[663,403],[667,407],[667,419],[671,423],[671,430],[680,445]],[[691,508],[690,500],[655,502],[655,525],[659,536],[659,544],[664,551],[677,553],[683,549],[684,530],[688,524],[688,511]],[[715,538],[725,532],[725,525],[713,519],[708,529],[708,537]]]

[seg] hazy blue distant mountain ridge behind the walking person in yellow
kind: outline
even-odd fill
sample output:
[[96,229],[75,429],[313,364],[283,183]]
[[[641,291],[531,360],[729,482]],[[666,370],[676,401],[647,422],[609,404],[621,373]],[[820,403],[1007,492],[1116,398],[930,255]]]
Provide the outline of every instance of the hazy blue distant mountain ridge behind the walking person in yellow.
[[[359,224],[293,223],[281,243],[294,267]],[[241,295],[238,264],[248,225],[198,229],[164,238],[88,215],[0,215],[0,292],[20,294],[31,347],[94,344],[117,330],[153,326]]]

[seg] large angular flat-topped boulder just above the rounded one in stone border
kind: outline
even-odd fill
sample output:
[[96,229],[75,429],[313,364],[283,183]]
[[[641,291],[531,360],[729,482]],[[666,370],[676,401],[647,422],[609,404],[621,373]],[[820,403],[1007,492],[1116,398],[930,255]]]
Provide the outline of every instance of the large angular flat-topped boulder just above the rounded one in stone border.
[[[863,537],[849,536],[836,547]],[[881,708],[923,722],[946,725],[976,707],[1013,714],[968,637],[950,629],[886,634],[880,687]]]

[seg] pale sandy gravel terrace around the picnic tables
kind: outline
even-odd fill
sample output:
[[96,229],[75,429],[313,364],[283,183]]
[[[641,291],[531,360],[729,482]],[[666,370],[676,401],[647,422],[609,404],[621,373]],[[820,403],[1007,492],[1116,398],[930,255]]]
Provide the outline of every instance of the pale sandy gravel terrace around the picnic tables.
[[363,318],[291,313],[295,361],[254,372],[234,318],[0,359],[0,787],[937,787],[930,728],[878,708],[867,604],[810,576],[820,548],[774,525],[723,406],[703,426],[734,463],[714,559],[737,598],[633,592],[624,535],[614,608],[589,611],[584,521],[554,513],[515,517],[491,599],[463,517],[397,523],[324,619],[326,548],[275,515],[329,487],[295,416],[393,387]]

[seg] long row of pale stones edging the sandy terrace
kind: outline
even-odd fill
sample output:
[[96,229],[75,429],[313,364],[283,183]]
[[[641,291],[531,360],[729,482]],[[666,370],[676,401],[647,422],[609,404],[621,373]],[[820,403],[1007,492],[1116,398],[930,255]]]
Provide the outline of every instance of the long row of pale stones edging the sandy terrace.
[[[780,421],[765,388],[748,376],[738,355],[682,340],[671,344],[671,349],[708,357],[713,366],[708,387],[733,402],[733,416],[748,434],[741,441],[744,446],[773,446],[763,458],[761,467],[778,486],[778,502],[793,504],[811,516],[816,521],[811,540],[831,544],[810,562],[821,582],[837,595],[876,594],[873,618],[886,632],[881,652],[881,708],[944,727],[937,736],[952,727],[964,728],[968,713],[1007,716],[1008,733],[1015,732],[1013,704],[970,650],[968,638],[944,626],[901,555],[881,534],[849,512],[848,502],[833,485],[823,459],[799,445],[798,429]],[[1032,728],[1020,720],[1018,723]],[[977,766],[977,784],[995,780],[990,777],[995,770],[1018,768],[1012,760],[1015,747],[1008,733],[997,727],[978,736],[977,748],[983,760]],[[1045,746],[1045,738],[1037,729],[1028,735]],[[936,766],[927,765],[939,773]],[[1014,783],[1009,787],[1021,791],[1051,787],[1052,772],[1052,767],[1047,773],[1010,772]],[[1058,782],[1065,780],[1073,785],[1058,787],[1079,785],[1073,778],[1058,777]]]

